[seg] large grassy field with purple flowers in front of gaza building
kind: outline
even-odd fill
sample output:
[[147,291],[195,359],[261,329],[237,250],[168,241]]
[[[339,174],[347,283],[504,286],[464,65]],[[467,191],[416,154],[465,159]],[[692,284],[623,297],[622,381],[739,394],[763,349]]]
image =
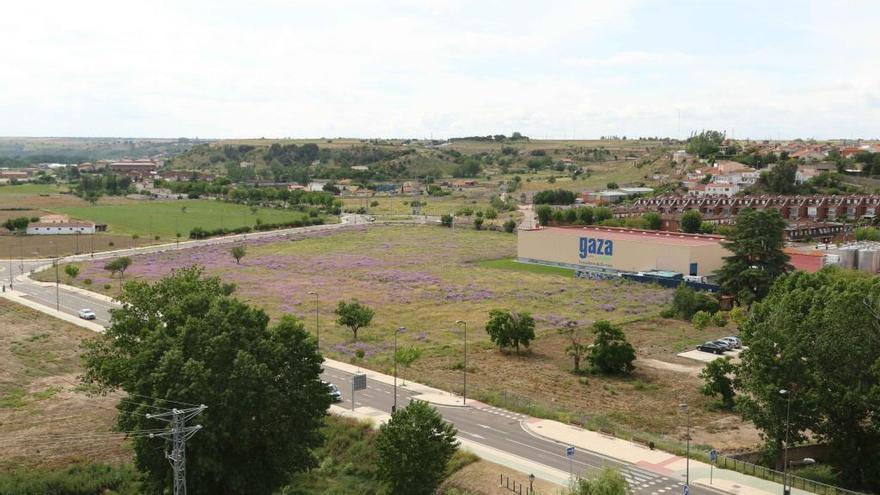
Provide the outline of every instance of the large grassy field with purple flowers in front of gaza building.
[[[407,378],[447,390],[461,387],[462,334],[456,320],[468,322],[469,391],[483,400],[614,427],[641,430],[680,440],[683,421],[678,404],[693,405],[695,439],[717,447],[751,445],[757,437],[731,414],[714,412],[698,389],[698,364],[675,354],[733,330],[663,320],[672,291],[625,281],[593,281],[557,270],[518,266],[513,234],[440,227],[351,227],[297,241],[263,242],[248,247],[236,265],[228,247],[143,256],[126,278],[157,279],[175,267],[200,264],[209,274],[234,282],[238,294],[278,317],[292,313],[315,331],[319,293],[321,347],[336,359],[381,371],[391,369],[393,329],[401,346],[418,346],[423,357]],[[78,283],[110,293],[118,290],[102,264],[84,265]],[[340,300],[357,299],[373,307],[372,325],[359,341],[333,322]],[[530,312],[537,340],[520,355],[501,353],[483,327],[494,308]],[[557,332],[569,321],[580,328],[600,319],[624,326],[638,350],[631,377],[578,376],[570,372],[567,342]],[[363,354],[363,358],[358,355]],[[561,416],[560,416],[561,415]]]

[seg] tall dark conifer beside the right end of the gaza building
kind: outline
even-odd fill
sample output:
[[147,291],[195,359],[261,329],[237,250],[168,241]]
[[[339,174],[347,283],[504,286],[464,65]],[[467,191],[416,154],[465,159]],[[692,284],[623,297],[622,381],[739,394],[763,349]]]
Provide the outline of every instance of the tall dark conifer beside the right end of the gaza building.
[[785,220],[772,208],[747,208],[736,216],[736,224],[723,243],[733,255],[724,258],[718,283],[740,304],[763,299],[776,278],[792,269],[782,251],[784,231]]

